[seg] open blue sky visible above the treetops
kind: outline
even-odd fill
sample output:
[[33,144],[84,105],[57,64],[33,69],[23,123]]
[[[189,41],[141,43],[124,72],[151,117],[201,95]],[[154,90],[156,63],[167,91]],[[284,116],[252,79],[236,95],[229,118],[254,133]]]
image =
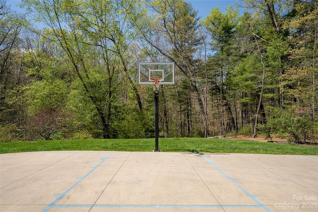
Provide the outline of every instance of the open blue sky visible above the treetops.
[[[194,9],[199,11],[199,16],[201,16],[201,19],[205,19],[207,15],[210,14],[210,10],[212,8],[215,8],[217,6],[220,6],[220,10],[222,12],[225,12],[225,8],[230,5],[234,4],[236,0],[186,0],[187,2],[190,2]],[[23,12],[19,7],[16,7],[15,5],[17,3],[20,3],[21,0],[6,0],[6,3],[8,5],[11,5],[11,9]]]

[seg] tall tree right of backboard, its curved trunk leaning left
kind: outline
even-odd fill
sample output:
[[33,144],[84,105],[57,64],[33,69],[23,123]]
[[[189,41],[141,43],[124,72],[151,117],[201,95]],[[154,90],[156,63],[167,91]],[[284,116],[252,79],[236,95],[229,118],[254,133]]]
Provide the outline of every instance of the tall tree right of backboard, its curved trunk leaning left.
[[[199,104],[200,117],[204,136],[208,135],[207,114],[203,96],[198,87],[198,72],[202,68],[202,60],[196,55],[202,44],[199,33],[197,11],[191,4],[183,1],[159,0],[146,1],[153,14],[140,11],[140,20],[133,20],[141,39],[159,51],[165,60],[174,62],[177,69],[186,77]],[[197,58],[196,58],[197,57]],[[181,76],[180,76],[181,77]]]

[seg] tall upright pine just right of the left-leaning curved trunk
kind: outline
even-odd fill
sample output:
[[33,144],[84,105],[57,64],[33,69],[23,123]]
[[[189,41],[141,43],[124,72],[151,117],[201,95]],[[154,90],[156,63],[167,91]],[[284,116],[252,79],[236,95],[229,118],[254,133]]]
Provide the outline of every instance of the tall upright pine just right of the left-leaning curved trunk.
[[[209,14],[206,20],[203,21],[207,33],[211,36],[211,50],[213,55],[209,58],[208,63],[210,63],[210,68],[214,69],[211,76],[218,74],[216,78],[210,77],[210,82],[212,83],[212,89],[220,95],[221,102],[221,133],[225,135],[224,127],[224,115],[223,107],[225,106],[228,122],[227,122],[227,131],[234,130],[235,121],[233,118],[231,105],[226,98],[224,87],[224,78],[227,77],[227,70],[232,66],[233,61],[229,60],[232,55],[231,51],[231,41],[233,40],[236,34],[236,26],[238,25],[239,10],[234,9],[232,6],[227,7],[226,13],[221,13],[220,8],[211,9],[211,14]],[[220,83],[217,83],[216,80],[219,80]]]

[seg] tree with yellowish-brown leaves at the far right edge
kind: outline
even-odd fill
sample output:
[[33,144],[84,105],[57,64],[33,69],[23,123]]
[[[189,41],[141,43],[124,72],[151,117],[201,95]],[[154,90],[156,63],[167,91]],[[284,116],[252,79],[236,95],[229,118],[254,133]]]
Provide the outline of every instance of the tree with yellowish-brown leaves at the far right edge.
[[310,120],[311,132],[306,139],[317,140],[318,75],[318,3],[299,1],[286,17],[284,29],[289,32],[288,51],[291,66],[283,75],[283,85],[290,100],[287,109],[295,117]]

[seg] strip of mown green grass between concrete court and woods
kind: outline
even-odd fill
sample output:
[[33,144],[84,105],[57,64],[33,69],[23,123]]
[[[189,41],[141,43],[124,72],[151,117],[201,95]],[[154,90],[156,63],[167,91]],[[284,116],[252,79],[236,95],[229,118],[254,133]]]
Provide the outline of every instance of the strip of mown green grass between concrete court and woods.
[[[0,143],[0,153],[62,150],[153,151],[154,148],[155,139],[93,139]],[[159,149],[165,152],[318,155],[317,146],[234,139],[159,138]]]

